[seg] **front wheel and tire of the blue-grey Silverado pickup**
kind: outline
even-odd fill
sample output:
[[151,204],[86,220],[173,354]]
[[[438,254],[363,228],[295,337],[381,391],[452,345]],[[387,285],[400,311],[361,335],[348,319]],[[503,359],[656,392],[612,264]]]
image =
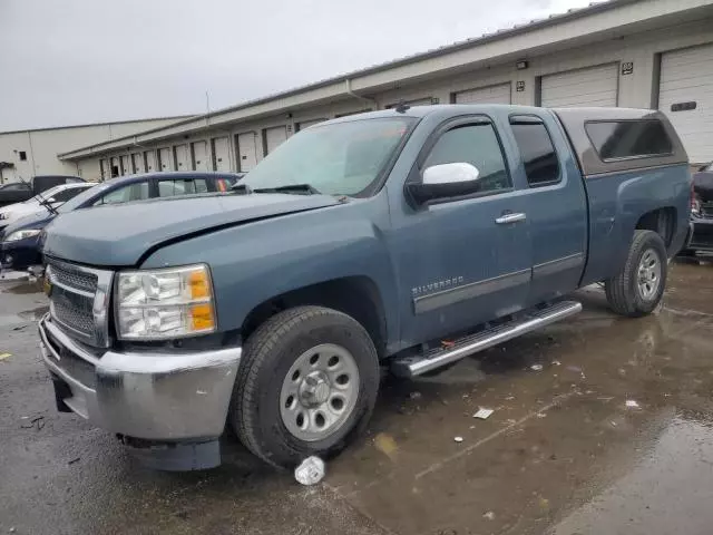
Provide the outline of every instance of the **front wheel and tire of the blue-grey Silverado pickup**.
[[297,307],[247,340],[229,421],[241,441],[277,467],[341,451],[369,421],[379,359],[364,328],[322,307]]

